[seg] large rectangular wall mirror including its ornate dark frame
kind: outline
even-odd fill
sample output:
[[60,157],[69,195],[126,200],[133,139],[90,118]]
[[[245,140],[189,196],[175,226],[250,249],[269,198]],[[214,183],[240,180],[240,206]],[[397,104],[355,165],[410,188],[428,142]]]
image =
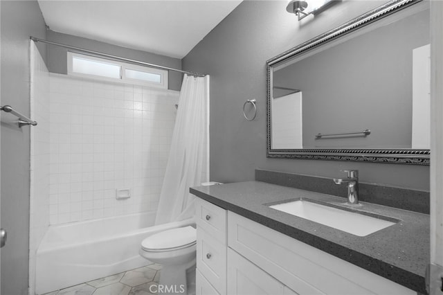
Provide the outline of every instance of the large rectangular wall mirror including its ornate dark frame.
[[268,60],[268,157],[428,165],[429,43],[398,0]]

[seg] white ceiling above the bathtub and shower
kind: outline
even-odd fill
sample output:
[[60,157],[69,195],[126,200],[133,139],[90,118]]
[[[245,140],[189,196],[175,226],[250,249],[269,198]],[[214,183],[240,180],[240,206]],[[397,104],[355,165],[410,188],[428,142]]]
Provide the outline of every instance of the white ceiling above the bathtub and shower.
[[39,0],[59,33],[183,58],[242,0]]

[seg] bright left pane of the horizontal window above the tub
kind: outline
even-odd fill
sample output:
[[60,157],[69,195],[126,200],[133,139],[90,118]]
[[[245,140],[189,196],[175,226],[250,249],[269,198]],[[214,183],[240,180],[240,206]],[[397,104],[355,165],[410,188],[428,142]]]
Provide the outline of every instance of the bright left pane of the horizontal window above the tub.
[[120,79],[120,65],[87,60],[74,56],[72,59],[72,71],[89,75],[100,75],[107,78]]

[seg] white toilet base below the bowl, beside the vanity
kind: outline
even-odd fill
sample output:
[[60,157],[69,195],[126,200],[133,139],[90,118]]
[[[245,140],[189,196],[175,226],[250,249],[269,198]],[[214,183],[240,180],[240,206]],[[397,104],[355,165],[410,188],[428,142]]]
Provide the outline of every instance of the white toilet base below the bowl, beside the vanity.
[[165,295],[188,295],[186,274],[191,267],[195,268],[195,258],[182,265],[163,265],[160,273],[158,293]]

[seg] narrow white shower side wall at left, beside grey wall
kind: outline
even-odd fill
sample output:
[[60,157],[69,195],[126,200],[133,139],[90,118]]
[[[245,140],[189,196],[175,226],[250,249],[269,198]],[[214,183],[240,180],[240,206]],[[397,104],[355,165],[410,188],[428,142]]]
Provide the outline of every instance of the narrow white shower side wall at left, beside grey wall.
[[30,44],[30,216],[29,289],[35,289],[35,254],[49,226],[49,71],[35,43]]

